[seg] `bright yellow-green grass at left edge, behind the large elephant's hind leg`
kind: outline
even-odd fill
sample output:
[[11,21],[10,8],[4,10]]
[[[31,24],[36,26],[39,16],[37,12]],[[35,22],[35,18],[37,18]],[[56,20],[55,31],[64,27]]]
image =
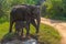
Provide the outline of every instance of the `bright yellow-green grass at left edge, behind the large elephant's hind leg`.
[[0,23],[0,40],[9,32],[9,23]]

